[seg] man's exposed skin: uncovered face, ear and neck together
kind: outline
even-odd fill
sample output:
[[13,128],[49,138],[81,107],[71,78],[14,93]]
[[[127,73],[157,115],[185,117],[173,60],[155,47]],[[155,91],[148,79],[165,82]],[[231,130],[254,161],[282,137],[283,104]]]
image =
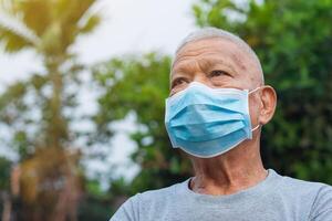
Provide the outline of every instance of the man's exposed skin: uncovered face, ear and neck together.
[[[185,90],[190,82],[209,87],[256,92],[249,95],[252,127],[267,124],[273,116],[277,95],[271,86],[263,85],[262,73],[255,59],[236,43],[209,38],[185,44],[176,54],[170,73],[170,94]],[[195,177],[189,188],[205,194],[231,194],[262,181],[267,177],[260,156],[259,127],[252,139],[212,158],[191,159]]]

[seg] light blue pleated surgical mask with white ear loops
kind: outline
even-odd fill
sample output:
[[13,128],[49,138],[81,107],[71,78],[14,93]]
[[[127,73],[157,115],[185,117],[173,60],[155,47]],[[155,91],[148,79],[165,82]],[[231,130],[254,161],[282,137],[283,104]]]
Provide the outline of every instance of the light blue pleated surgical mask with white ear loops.
[[251,139],[259,127],[251,129],[248,96],[253,91],[211,88],[193,82],[168,97],[165,125],[173,147],[210,158]]

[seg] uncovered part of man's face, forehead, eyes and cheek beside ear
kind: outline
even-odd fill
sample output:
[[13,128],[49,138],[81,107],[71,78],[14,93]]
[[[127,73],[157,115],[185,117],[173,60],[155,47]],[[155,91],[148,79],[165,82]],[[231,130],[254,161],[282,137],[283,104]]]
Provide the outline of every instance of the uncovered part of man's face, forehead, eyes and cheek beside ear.
[[[214,88],[255,90],[262,85],[259,67],[237,44],[220,38],[187,43],[175,57],[170,75],[170,96],[190,82]],[[249,97],[252,126],[259,124],[259,92]]]

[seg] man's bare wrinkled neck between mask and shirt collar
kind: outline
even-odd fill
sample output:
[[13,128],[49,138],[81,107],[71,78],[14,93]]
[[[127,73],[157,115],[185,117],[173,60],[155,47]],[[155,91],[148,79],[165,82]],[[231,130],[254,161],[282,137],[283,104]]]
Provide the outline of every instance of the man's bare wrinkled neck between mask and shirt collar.
[[195,177],[189,188],[203,194],[231,194],[256,186],[268,172],[257,145],[241,145],[209,159],[193,158]]

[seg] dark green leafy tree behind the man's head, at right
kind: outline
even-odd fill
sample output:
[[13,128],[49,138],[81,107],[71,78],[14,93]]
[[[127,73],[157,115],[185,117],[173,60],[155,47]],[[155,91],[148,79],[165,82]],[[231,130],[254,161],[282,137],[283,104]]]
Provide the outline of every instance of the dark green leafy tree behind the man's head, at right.
[[200,0],[193,10],[199,27],[249,42],[277,90],[276,116],[262,131],[266,166],[332,183],[332,1]]

